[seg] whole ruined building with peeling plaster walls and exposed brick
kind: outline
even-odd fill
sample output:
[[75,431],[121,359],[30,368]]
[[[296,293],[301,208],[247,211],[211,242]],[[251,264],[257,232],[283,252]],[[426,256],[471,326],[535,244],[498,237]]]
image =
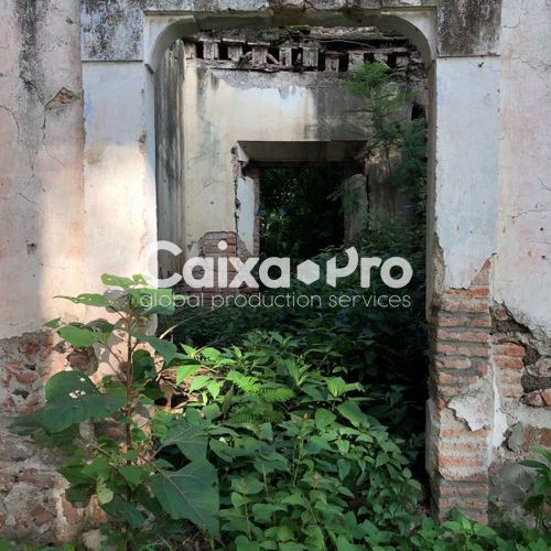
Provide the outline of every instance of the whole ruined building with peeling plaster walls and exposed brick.
[[[433,509],[516,510],[530,482],[518,458],[551,445],[547,0],[0,10],[0,537],[61,541],[89,514],[62,497],[57,457],[7,429],[41,403],[51,374],[86,359],[44,331],[83,316],[53,296],[139,272],[159,238],[183,250],[159,259],[165,272],[213,236],[257,251],[263,164],[333,163],[344,181],[365,179],[366,137],[341,86],[361,61],[401,69],[429,125]],[[388,203],[367,177],[369,199]]]

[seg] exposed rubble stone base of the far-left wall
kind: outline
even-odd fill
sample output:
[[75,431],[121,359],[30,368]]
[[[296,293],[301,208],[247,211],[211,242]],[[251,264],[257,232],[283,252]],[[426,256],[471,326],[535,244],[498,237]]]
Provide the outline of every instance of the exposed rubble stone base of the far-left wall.
[[21,543],[68,541],[84,520],[63,497],[62,457],[9,429],[43,403],[45,381],[65,367],[63,352],[51,333],[0,341],[0,537]]

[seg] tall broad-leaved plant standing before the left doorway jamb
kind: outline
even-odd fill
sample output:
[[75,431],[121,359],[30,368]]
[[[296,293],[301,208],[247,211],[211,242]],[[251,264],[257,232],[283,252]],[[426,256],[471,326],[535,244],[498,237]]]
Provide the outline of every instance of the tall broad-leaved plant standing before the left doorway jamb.
[[[69,452],[60,469],[69,483],[66,497],[77,504],[97,500],[112,521],[109,544],[130,549],[151,531],[182,530],[171,523],[179,519],[216,537],[218,480],[206,460],[203,425],[191,415],[156,422],[160,375],[179,363],[190,365],[173,343],[145,332],[152,314],[174,313],[172,291],[149,289],[140,276],[101,279],[106,293],[64,299],[104,309],[111,321],[47,325],[76,348],[107,354],[110,372],[96,381],[78,370],[54,375],[44,407],[21,418],[14,430]],[[83,423],[96,423],[95,437],[79,435]],[[182,453],[177,466],[158,456],[173,443]]]

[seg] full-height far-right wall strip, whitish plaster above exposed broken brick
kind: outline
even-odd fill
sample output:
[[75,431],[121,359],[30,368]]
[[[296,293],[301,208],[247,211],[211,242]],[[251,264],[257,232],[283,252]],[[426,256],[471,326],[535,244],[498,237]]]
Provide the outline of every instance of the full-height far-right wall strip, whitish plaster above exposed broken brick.
[[504,1],[491,338],[506,430],[490,497],[509,511],[531,483],[518,460],[551,446],[550,18],[549,0]]

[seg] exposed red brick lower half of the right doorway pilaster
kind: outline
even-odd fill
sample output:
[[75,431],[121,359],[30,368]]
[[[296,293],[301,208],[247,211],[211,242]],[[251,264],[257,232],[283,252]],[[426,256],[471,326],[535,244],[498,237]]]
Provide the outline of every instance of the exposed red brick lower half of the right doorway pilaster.
[[426,463],[439,518],[457,508],[487,520],[493,389],[489,264],[468,289],[434,301]]

